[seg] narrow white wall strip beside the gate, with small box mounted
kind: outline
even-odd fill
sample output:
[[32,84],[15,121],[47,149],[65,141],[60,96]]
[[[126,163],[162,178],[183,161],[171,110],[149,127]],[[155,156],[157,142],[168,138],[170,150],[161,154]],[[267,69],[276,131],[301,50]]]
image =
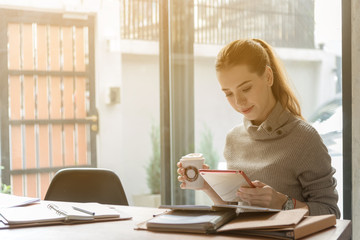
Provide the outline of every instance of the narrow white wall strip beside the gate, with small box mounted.
[[[106,103],[108,88],[122,87],[121,54],[119,51],[111,51],[109,45],[114,39],[120,41],[119,21],[119,3],[103,1],[98,9],[95,25],[95,91],[99,113],[97,163],[98,167],[112,169],[121,176],[119,146],[123,145],[123,105]],[[124,188],[126,192],[125,184]]]

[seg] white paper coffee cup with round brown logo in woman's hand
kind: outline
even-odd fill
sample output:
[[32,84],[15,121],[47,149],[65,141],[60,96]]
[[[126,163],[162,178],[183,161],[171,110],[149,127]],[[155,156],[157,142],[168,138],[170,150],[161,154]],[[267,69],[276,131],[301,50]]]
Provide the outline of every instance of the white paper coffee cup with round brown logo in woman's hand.
[[204,186],[204,179],[199,173],[203,168],[205,158],[201,153],[190,153],[180,159],[182,167],[185,169],[186,189],[200,189]]

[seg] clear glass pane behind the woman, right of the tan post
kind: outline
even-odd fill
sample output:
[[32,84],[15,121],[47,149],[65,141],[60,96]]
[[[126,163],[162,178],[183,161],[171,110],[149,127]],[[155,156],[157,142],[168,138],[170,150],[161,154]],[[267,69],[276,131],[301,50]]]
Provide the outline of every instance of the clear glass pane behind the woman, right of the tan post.
[[[340,4],[339,0],[196,0],[183,6],[182,14],[193,19],[194,27],[172,25],[171,36],[186,34],[187,40],[193,39],[193,50],[182,52],[193,61],[188,62],[193,64],[188,69],[193,71],[194,87],[195,147],[191,150],[203,153],[212,168],[226,169],[225,137],[231,128],[242,123],[242,116],[231,108],[220,90],[215,58],[233,40],[264,39],[283,61],[303,116],[328,147],[336,169],[338,205],[342,209]],[[178,5],[176,9],[180,11]],[[176,21],[177,17],[172,12],[170,19]],[[197,204],[211,204],[200,191],[185,198],[185,202],[194,198]]]

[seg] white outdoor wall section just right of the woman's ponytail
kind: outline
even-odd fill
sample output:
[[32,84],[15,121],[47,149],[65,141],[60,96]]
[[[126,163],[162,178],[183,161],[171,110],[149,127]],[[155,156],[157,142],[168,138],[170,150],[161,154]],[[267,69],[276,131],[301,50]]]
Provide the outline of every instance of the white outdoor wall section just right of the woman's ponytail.
[[305,118],[336,95],[336,55],[317,49],[275,49],[282,59]]

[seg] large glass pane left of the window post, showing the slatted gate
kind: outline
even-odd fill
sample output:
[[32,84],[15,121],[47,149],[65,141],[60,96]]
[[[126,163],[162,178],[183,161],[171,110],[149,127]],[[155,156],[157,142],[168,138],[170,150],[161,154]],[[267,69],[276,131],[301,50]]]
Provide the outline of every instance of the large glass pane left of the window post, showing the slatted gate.
[[[43,78],[44,75],[43,72],[39,73],[39,71],[55,71],[55,73],[46,74],[65,75],[64,78],[58,77],[60,82],[60,85],[58,84],[60,87],[57,88],[58,92],[55,92],[55,88],[51,89],[44,86],[47,90],[36,90],[27,94],[30,99],[35,96],[33,102],[23,101],[21,95],[12,94],[14,98],[10,99],[9,104],[11,101],[13,103],[11,106],[15,106],[17,102],[19,104],[16,105],[17,109],[15,109],[16,106],[11,109],[10,117],[15,117],[16,111],[19,116],[20,114],[24,115],[24,111],[21,110],[21,103],[31,103],[34,105],[33,108],[37,109],[47,101],[50,102],[50,105],[44,108],[59,113],[59,116],[61,114],[66,115],[68,113],[66,110],[69,108],[76,112],[75,115],[66,119],[68,122],[63,122],[63,119],[55,119],[60,128],[57,132],[52,130],[52,135],[49,136],[51,139],[51,136],[58,133],[60,139],[58,144],[51,142],[51,140],[44,140],[49,139],[49,137],[44,138],[42,133],[39,133],[41,127],[40,130],[37,130],[38,132],[33,131],[33,135],[26,135],[26,141],[29,141],[26,142],[26,148],[21,147],[25,146],[24,142],[15,141],[15,138],[11,138],[11,133],[7,139],[2,138],[1,142],[5,140],[9,142],[9,148],[1,151],[2,159],[7,158],[4,157],[4,154],[9,152],[9,149],[14,149],[10,152],[13,158],[18,157],[20,159],[15,163],[1,162],[0,165],[4,166],[2,183],[12,186],[12,193],[14,194],[43,198],[54,172],[70,165],[72,167],[83,166],[84,164],[81,161],[87,161],[89,163],[87,166],[108,168],[120,177],[130,205],[157,207],[160,204],[158,0],[49,0],[46,3],[44,1],[6,1],[6,3],[0,3],[0,8],[2,10],[11,8],[16,13],[13,16],[19,16],[20,21],[34,22],[33,25],[19,25],[20,30],[17,32],[23,35],[25,32],[29,32],[26,35],[27,37],[22,35],[18,37],[16,34],[10,35],[10,30],[18,26],[14,24],[11,25],[12,28],[9,31],[3,31],[4,29],[1,31],[9,32],[9,36],[19,42],[17,46],[22,46],[13,47],[13,43],[16,41],[12,41],[11,46],[8,46],[13,50],[12,52],[16,53],[17,49],[19,52],[28,54],[26,56],[35,56],[34,58],[26,58],[28,59],[26,62],[34,63],[35,68],[25,69],[25,66],[24,69],[36,71],[34,74],[39,75],[39,79]],[[34,12],[39,13],[34,14]],[[53,15],[56,18],[45,19],[40,13]],[[29,20],[30,18],[33,20]],[[81,26],[89,19],[93,21],[91,27],[85,25],[84,31],[80,31],[83,29]],[[37,22],[40,22],[41,26],[35,24]],[[14,32],[16,32],[15,30]],[[67,35],[65,35],[65,31]],[[32,36],[35,36],[33,40],[31,40]],[[83,46],[80,44],[82,39],[85,39]],[[46,64],[40,69],[40,58],[36,56],[43,52],[47,57],[46,61],[43,61]],[[46,55],[46,53],[48,54]],[[79,53],[85,55],[85,59],[79,57]],[[14,55],[20,56],[19,54]],[[10,67],[13,67],[13,63],[19,62],[21,58],[14,59]],[[64,67],[54,69],[52,67],[54,64]],[[79,64],[84,65],[84,68],[79,70]],[[13,67],[13,69],[17,71],[18,68]],[[18,72],[15,70],[13,72],[17,76]],[[85,81],[72,82],[73,76],[76,76],[78,80],[79,77],[87,73],[92,73],[89,78],[94,81],[87,81],[86,84]],[[71,81],[65,81],[65,78],[70,78]],[[18,89],[21,89],[24,85],[21,81],[23,80],[14,81],[15,83],[19,82],[19,86],[12,84],[9,89],[15,89],[13,86],[18,86]],[[37,78],[36,81],[40,82]],[[64,82],[64,85],[61,85],[61,82]],[[8,83],[2,84],[7,85]],[[40,89],[40,83],[38,85],[36,88]],[[92,95],[92,93],[94,94]],[[42,98],[38,98],[38,95],[41,95]],[[90,102],[90,98],[94,102]],[[83,108],[87,110],[86,116],[84,110],[81,110],[83,108],[74,105],[74,102],[83,104]],[[3,103],[2,101],[1,104]],[[94,110],[94,112],[90,113],[89,109]],[[72,134],[82,130],[79,127],[75,130],[72,128],[69,131],[65,131],[61,127],[65,126],[64,128],[67,129],[66,124],[78,117],[80,110],[84,115],[84,119],[81,121],[89,123],[89,128],[84,134],[88,134],[89,131],[96,132],[94,134],[95,139],[91,143],[89,139],[87,142],[80,141],[79,134]],[[92,114],[96,116],[93,117]],[[1,116],[4,117],[3,114]],[[44,118],[48,119],[48,116],[46,115]],[[2,122],[5,120],[2,119]],[[75,119],[74,121],[80,120]],[[95,124],[92,121],[97,123],[94,130],[92,125]],[[23,130],[19,128],[19,134],[21,131],[28,131],[28,127],[22,128]],[[15,132],[17,129],[13,128],[12,130]],[[2,134],[2,136],[4,135]],[[34,143],[33,145],[35,145],[39,142],[42,143],[41,148],[35,149],[30,144]],[[79,145],[84,145],[82,149],[85,150],[80,149]],[[71,147],[79,150],[74,150],[71,153],[69,152]],[[96,149],[94,154],[90,154],[90,148]],[[31,165],[22,149],[27,149],[27,151],[30,149],[29,151],[33,153]],[[54,158],[50,156],[49,152],[52,153],[55,150],[58,151]],[[44,151],[47,151],[47,154],[43,154]],[[67,161],[70,161],[70,155],[75,156],[76,159],[87,158],[78,162],[74,161],[69,165]],[[49,164],[43,165],[43,161],[40,159]],[[59,162],[56,159],[60,159]],[[41,173],[33,174],[35,171]],[[48,171],[51,172],[50,177]],[[42,177],[43,173],[47,174],[47,179]],[[21,174],[25,174],[25,177],[22,177]],[[13,175],[15,177],[12,177]],[[22,189],[19,185],[21,183],[24,183],[24,186],[27,183],[31,185],[31,189],[29,188],[31,191]],[[15,184],[19,185],[20,188],[15,188]]]

